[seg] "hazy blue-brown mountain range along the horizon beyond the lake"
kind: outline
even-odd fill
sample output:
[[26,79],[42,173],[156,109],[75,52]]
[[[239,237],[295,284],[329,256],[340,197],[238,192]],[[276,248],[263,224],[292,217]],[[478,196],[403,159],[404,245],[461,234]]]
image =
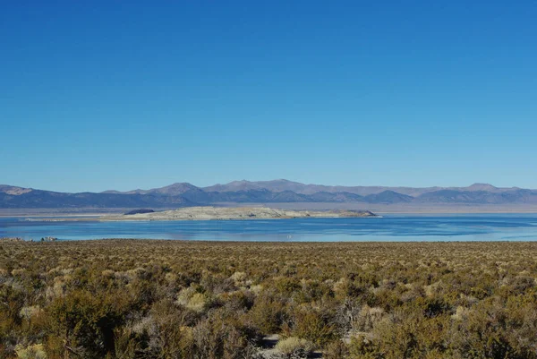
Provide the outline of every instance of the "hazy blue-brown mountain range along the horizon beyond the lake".
[[368,208],[373,204],[416,205],[537,205],[537,190],[499,188],[491,184],[467,187],[385,187],[330,186],[301,184],[284,179],[274,181],[234,181],[197,187],[177,183],[149,190],[128,192],[51,192],[0,185],[0,209],[114,209],[179,208],[200,205],[290,203],[354,203]]

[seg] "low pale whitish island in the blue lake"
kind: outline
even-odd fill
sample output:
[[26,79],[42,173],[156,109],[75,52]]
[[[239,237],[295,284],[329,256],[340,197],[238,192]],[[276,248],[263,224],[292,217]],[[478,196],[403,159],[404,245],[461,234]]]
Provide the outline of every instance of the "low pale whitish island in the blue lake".
[[160,212],[103,216],[98,220],[226,220],[226,219],[286,219],[286,218],[354,218],[379,217],[369,210],[288,210],[265,207],[187,207]]

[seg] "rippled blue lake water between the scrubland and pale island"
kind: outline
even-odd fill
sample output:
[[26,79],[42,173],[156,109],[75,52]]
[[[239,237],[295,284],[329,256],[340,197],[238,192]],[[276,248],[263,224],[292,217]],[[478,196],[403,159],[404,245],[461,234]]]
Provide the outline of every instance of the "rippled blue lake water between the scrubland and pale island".
[[197,241],[537,241],[537,214],[386,215],[218,221],[47,222],[0,218],[0,237]]

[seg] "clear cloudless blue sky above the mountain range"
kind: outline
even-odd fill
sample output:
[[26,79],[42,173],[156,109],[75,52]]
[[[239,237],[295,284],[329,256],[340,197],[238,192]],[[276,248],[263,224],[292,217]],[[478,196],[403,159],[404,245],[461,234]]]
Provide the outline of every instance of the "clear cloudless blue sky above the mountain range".
[[537,3],[4,1],[0,184],[537,188]]

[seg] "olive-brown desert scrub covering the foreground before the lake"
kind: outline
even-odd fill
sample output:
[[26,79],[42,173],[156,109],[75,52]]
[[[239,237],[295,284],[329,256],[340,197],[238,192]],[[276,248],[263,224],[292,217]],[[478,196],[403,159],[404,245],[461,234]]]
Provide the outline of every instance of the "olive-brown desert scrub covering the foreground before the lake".
[[536,278],[537,243],[3,242],[0,357],[537,358]]

